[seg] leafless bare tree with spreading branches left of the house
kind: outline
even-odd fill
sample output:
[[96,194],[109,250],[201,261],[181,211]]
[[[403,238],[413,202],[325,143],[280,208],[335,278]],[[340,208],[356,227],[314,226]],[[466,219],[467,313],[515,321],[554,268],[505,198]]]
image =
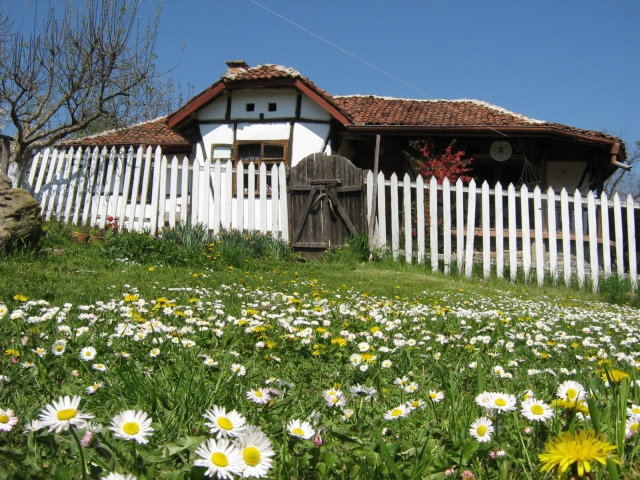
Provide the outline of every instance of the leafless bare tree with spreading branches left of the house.
[[96,121],[117,128],[168,113],[153,63],[161,5],[150,4],[141,22],[140,1],[84,0],[76,9],[67,0],[28,34],[0,16],[0,109],[16,130],[14,161]]

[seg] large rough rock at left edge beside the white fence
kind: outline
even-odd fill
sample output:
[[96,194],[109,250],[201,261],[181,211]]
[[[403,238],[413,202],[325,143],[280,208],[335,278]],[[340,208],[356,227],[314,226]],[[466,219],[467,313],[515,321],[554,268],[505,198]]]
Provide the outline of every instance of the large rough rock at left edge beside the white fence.
[[35,246],[44,233],[40,205],[0,173],[0,250],[16,246]]

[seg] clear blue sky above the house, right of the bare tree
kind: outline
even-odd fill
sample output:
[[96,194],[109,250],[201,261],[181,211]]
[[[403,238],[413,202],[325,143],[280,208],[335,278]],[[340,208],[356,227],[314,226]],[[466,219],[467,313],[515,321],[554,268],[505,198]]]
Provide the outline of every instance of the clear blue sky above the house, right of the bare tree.
[[[226,60],[293,67],[334,95],[472,98],[640,140],[640,2],[165,0],[158,66],[198,93]],[[186,46],[183,45],[186,42]]]

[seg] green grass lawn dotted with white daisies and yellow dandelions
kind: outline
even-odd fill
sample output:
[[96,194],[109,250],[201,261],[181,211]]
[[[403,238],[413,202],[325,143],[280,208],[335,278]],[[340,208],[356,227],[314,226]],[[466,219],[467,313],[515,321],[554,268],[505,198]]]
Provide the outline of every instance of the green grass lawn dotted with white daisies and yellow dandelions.
[[0,479],[638,476],[623,282],[48,228],[0,258]]

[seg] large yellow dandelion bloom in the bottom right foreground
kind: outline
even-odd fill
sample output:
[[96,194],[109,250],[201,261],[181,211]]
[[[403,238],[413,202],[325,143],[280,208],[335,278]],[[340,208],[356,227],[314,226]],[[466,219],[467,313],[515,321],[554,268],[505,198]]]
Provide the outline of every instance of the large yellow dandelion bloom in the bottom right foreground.
[[541,470],[549,472],[555,468],[562,475],[571,467],[572,478],[582,477],[591,472],[591,462],[600,465],[607,463],[607,457],[621,465],[617,455],[612,455],[616,447],[604,440],[593,430],[581,430],[577,433],[562,432],[545,444],[545,451],[538,455],[542,462]]

